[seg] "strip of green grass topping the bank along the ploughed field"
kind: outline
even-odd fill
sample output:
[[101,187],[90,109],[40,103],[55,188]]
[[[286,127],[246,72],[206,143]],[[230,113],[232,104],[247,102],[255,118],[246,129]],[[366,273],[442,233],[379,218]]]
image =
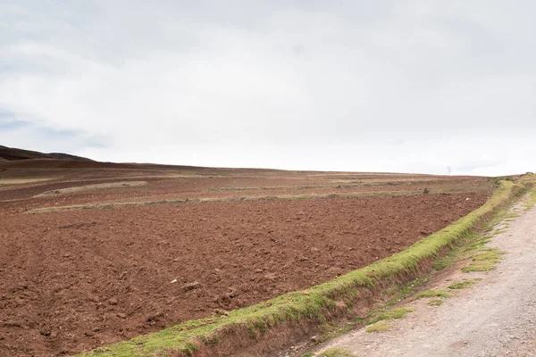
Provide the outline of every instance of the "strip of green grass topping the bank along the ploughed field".
[[447,228],[432,234],[405,251],[349,272],[334,280],[314,286],[307,292],[293,292],[244,309],[230,311],[229,316],[192,320],[165,328],[147,336],[101,347],[79,357],[145,357],[191,355],[203,345],[218,344],[229,335],[248,334],[257,338],[270,328],[299,320],[322,323],[340,300],[356,301],[359,291],[374,290],[380,283],[389,284],[418,273],[419,264],[433,260],[445,249],[455,245],[478,226],[482,220],[523,194],[527,186],[501,181],[499,187],[482,207],[474,210]]

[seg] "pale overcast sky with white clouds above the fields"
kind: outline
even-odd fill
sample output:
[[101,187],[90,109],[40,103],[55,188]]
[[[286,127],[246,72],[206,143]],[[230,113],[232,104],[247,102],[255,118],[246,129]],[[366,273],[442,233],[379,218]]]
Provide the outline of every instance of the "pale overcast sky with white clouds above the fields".
[[0,0],[0,145],[105,162],[536,171],[532,0]]

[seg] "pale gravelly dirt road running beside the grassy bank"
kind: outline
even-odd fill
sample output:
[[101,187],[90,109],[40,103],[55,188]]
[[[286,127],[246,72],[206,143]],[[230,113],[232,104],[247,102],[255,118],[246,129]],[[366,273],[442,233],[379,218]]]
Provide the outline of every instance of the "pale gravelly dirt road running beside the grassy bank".
[[490,247],[507,252],[497,270],[454,271],[429,288],[446,288],[463,278],[482,278],[439,307],[425,299],[406,319],[392,320],[384,333],[364,328],[322,345],[317,351],[344,347],[356,356],[536,356],[536,208],[507,222]]

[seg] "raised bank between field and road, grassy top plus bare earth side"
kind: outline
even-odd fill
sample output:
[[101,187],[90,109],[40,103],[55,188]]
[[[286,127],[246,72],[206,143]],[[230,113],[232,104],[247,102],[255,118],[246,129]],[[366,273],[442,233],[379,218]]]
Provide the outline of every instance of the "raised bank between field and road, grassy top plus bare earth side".
[[270,340],[270,348],[277,348],[278,344],[279,347],[288,345],[292,339],[306,336],[314,329],[311,326],[355,311],[358,305],[381,291],[382,287],[415,278],[423,268],[430,267],[431,261],[471,234],[494,212],[522,195],[531,184],[532,175],[529,179],[520,179],[516,184],[500,181],[486,203],[447,228],[401,253],[321,285],[281,295],[244,309],[222,311],[219,316],[187,321],[78,356],[225,355],[251,348],[252,345],[262,345],[266,338]]

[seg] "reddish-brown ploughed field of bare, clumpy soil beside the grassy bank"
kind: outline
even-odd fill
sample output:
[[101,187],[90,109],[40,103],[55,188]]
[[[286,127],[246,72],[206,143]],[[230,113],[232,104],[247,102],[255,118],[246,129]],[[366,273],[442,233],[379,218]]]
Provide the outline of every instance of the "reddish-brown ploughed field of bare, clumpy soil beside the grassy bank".
[[[313,286],[406,248],[490,194],[482,178],[216,169],[185,178],[177,175],[195,169],[56,166],[2,172],[8,179],[53,178],[5,187],[0,180],[2,356],[78,353]],[[147,185],[33,197],[140,176]],[[423,187],[431,193],[415,195]],[[25,213],[78,203],[341,190],[407,192]],[[452,191],[461,193],[445,193]]]

